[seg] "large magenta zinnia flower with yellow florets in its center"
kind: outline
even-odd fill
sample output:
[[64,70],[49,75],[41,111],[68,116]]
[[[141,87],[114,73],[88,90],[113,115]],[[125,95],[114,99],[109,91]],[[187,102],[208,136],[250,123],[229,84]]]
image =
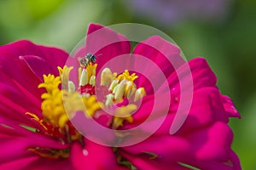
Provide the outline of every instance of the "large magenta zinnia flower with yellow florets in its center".
[[[73,67],[64,66],[68,54],[57,48],[27,41],[0,48],[1,169],[241,169],[239,159],[230,149],[233,134],[227,125],[229,117],[240,116],[231,99],[220,94],[206,60],[197,58],[186,63],[181,59],[176,70],[164,54],[175,59],[180,55],[179,48],[160,37],[149,37],[137,44],[132,54],[142,55],[159,66],[167,87],[160,80],[155,88],[148,77],[125,70],[126,65],[140,66],[136,58],[131,62],[124,59],[124,65],[120,65],[124,71],[119,74],[111,65],[105,67],[116,56],[130,54],[131,45],[124,36],[106,28],[100,37],[90,39],[91,33],[102,28],[90,25],[86,46],[76,54],[86,56],[71,59],[77,62]],[[115,42],[96,50],[109,37]],[[189,82],[186,65],[194,82],[192,105],[183,126],[170,134],[181,103],[182,85],[177,72],[183,73],[183,82]],[[148,68],[146,64],[141,67]],[[155,81],[159,80],[157,71],[146,71]],[[96,85],[97,81],[100,84]],[[97,96],[96,92],[101,93]],[[166,117],[160,107],[160,103],[166,102],[164,99],[157,101],[159,105],[153,110],[154,98],[159,94],[171,94],[171,99],[166,100]],[[129,99],[132,102],[127,104]],[[114,115],[109,116],[106,108],[113,109]],[[154,119],[144,122],[150,114]],[[108,147],[81,135],[96,127],[90,127],[90,122],[77,124],[78,120],[91,118],[112,130],[146,123],[141,129],[144,133],[150,131],[154,121],[161,119],[163,123],[138,144]],[[133,135],[114,134],[124,141]],[[108,137],[113,146],[119,143],[112,141],[116,138],[111,135],[100,135]]]

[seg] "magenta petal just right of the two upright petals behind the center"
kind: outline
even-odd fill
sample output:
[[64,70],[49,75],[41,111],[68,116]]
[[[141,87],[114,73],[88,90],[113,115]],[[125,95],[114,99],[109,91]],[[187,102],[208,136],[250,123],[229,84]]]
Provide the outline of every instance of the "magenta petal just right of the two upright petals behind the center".
[[172,111],[177,111],[177,107],[180,105],[181,93],[183,93],[183,96],[190,96],[185,98],[189,99],[188,101],[183,101],[183,103],[189,104],[194,95],[194,91],[209,87],[218,89],[216,87],[216,77],[214,73],[207,65],[207,61],[201,58],[192,59],[188,63],[180,66],[177,71],[174,71],[172,75],[167,78],[167,82],[169,86],[166,87],[166,85],[163,85],[159,88],[159,92],[171,93],[170,105]]

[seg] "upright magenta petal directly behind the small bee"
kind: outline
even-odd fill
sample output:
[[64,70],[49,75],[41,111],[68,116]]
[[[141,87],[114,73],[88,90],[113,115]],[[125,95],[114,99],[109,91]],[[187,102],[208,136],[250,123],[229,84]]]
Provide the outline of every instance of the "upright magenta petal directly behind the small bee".
[[109,60],[122,54],[130,54],[130,52],[131,44],[126,37],[119,35],[108,27],[90,24],[85,48],[79,49],[75,57],[84,57],[87,53],[95,54],[98,65],[96,71],[98,72]]

